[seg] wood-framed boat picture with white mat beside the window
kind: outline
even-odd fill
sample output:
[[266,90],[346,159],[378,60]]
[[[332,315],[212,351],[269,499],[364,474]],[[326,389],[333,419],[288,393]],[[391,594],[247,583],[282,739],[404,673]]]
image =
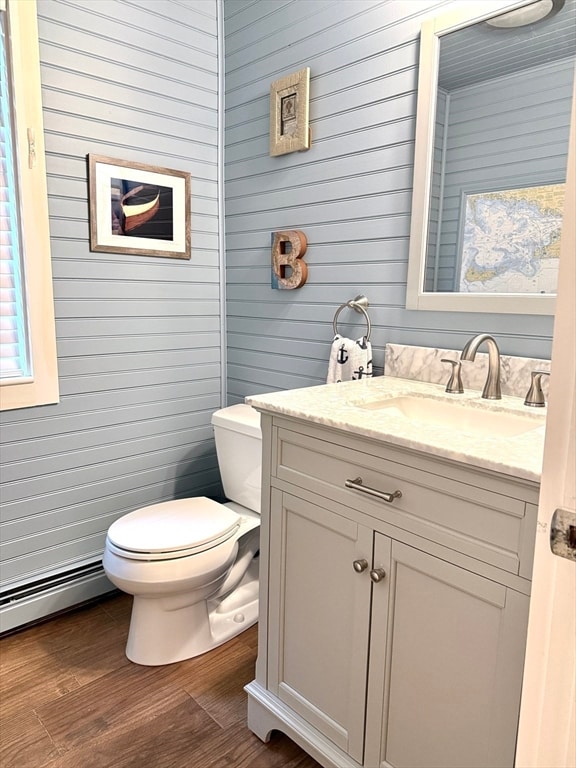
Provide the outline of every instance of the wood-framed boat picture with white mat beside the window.
[[190,174],[88,155],[90,250],[190,258]]

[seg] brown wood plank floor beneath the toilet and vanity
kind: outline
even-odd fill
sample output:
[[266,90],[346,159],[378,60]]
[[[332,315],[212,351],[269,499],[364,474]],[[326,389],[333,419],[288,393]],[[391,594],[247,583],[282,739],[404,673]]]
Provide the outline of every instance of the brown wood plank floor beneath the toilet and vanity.
[[142,667],[124,655],[130,608],[117,595],[0,640],[2,768],[320,768],[246,727],[256,627]]

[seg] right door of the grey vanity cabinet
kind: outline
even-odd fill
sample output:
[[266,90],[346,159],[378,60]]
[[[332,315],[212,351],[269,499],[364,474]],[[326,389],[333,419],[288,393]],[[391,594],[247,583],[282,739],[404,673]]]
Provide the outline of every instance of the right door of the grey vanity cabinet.
[[528,598],[393,542],[390,600],[375,587],[373,630],[382,612],[388,644],[385,663],[376,646],[370,659],[367,764],[512,768]]

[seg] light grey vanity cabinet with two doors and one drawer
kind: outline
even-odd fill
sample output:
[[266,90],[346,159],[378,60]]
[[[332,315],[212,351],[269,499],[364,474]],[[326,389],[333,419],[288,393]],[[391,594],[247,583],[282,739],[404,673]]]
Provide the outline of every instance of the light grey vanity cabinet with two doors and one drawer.
[[325,766],[512,768],[537,484],[276,414],[262,424],[249,727]]

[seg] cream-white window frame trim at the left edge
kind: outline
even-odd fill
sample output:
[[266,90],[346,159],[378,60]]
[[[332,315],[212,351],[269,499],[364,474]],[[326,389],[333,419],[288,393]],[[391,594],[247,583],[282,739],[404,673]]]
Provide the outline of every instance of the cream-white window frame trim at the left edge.
[[32,375],[0,382],[2,411],[59,402],[36,0],[4,5]]

